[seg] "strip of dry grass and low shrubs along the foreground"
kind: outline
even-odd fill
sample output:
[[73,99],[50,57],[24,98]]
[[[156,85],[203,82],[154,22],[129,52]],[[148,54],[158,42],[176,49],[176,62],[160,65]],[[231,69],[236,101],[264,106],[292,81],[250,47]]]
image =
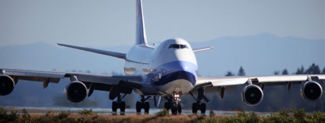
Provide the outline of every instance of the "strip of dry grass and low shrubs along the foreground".
[[97,115],[91,110],[84,110],[86,113],[74,113],[61,111],[54,113],[48,111],[45,114],[29,114],[26,110],[21,112],[7,113],[7,110],[0,107],[1,122],[324,122],[325,113],[305,113],[304,109],[281,110],[270,116],[258,116],[254,112],[242,112],[233,116],[215,115]]

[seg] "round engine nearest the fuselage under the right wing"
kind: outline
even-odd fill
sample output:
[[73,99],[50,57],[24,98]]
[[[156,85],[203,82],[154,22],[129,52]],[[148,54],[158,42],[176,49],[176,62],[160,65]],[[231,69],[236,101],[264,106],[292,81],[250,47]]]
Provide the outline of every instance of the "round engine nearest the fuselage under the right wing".
[[256,85],[248,85],[243,89],[242,100],[249,106],[254,106],[263,100],[263,91]]

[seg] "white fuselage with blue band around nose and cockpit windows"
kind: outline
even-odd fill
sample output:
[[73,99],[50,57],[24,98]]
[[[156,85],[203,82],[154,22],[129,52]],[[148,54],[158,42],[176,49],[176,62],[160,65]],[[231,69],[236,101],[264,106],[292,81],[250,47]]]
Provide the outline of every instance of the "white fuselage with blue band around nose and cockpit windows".
[[165,40],[157,47],[135,45],[126,55],[126,75],[143,76],[138,94],[171,96],[187,94],[196,83],[198,64],[190,45],[182,38]]

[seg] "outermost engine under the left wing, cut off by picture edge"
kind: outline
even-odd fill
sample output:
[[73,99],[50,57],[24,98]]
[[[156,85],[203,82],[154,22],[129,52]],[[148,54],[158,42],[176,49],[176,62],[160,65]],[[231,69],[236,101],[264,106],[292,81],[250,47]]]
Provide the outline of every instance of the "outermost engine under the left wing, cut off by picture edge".
[[9,75],[0,75],[0,95],[8,95],[14,88],[15,82]]

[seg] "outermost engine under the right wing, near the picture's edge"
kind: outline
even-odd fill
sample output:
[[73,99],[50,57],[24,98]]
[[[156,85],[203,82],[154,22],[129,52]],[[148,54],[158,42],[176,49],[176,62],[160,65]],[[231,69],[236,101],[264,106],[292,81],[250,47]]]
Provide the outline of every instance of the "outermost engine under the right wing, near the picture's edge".
[[323,90],[316,81],[307,81],[300,89],[301,96],[307,101],[318,100]]

